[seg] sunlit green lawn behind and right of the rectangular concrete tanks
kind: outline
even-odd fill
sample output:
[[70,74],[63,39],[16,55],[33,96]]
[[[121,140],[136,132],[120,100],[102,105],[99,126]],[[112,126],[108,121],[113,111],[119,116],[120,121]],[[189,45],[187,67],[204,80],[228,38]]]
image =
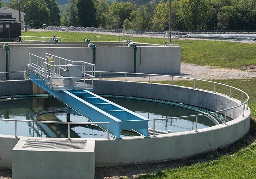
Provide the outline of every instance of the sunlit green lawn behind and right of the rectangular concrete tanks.
[[[95,36],[100,36],[97,37],[98,41],[119,41],[118,36],[93,33],[22,32],[23,36],[52,37],[53,34],[56,34],[57,37],[62,37],[63,41],[82,42],[85,38],[94,41]],[[133,40],[143,43],[163,44],[163,39],[160,38],[134,37]],[[182,47],[181,61],[185,63],[237,69],[241,69],[246,65],[256,64],[256,43],[244,44],[210,40],[181,40],[180,46]]]

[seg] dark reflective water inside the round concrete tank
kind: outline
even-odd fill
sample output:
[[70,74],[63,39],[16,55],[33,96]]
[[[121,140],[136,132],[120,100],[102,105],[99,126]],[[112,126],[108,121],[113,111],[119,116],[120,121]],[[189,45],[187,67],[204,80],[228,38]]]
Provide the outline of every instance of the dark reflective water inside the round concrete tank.
[[[149,127],[153,127],[154,118],[187,116],[197,114],[195,111],[187,110],[179,107],[174,107],[167,104],[160,104],[154,102],[146,102],[139,100],[127,100],[108,98],[109,100],[129,109],[141,116],[150,119]],[[24,100],[2,102],[0,103],[0,118],[5,119],[22,119],[22,120],[36,120],[35,115],[42,111],[56,110],[64,108],[65,105],[53,97],[40,98],[25,98]],[[40,118],[48,121],[66,121],[65,113],[46,113],[40,115]],[[71,115],[72,122],[87,122],[88,120],[82,116]],[[175,119],[157,121],[156,128],[158,130],[173,132],[181,132],[193,130],[195,119]],[[198,118],[198,129],[214,126],[207,117]],[[106,132],[95,125],[70,126],[71,138],[91,138],[91,137],[106,137]],[[18,122],[17,134],[19,136],[31,137],[67,137],[67,125],[52,125],[30,122]],[[14,122],[0,122],[1,134],[14,135]],[[121,136],[137,135],[129,131],[122,131]]]

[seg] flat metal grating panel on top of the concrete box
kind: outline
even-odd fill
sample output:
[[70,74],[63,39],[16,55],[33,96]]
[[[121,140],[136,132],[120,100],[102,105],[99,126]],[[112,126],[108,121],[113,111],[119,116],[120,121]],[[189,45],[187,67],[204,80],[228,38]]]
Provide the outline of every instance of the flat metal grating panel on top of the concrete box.
[[63,141],[63,140],[33,140],[28,139],[22,148],[33,149],[74,149],[85,150],[86,140],[82,141]]

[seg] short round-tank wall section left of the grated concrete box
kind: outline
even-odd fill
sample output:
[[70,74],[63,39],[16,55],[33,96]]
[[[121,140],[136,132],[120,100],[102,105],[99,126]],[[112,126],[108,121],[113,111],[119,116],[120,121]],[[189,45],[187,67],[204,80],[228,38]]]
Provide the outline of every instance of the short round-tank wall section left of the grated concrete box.
[[0,169],[12,168],[12,149],[19,141],[9,135],[0,135]]

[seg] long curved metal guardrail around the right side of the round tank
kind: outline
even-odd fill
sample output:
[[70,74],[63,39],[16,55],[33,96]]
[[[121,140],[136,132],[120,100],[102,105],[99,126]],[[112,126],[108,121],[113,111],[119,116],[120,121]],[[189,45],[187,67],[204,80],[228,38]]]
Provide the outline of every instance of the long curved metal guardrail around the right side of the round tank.
[[[87,71],[85,71],[87,72]],[[178,117],[169,117],[169,118],[159,118],[159,119],[154,119],[154,128],[153,128],[153,136],[156,136],[155,135],[155,122],[156,121],[160,121],[160,120],[172,120],[172,119],[179,119],[179,118],[196,118],[196,127],[195,127],[195,131],[197,132],[198,129],[197,129],[197,125],[198,125],[198,117],[199,116],[208,116],[208,115],[212,115],[212,114],[218,114],[218,113],[222,113],[224,112],[224,125],[226,125],[227,123],[227,111],[228,110],[232,110],[232,109],[235,109],[235,108],[238,108],[240,106],[243,106],[243,112],[242,112],[242,117],[245,117],[244,116],[244,113],[245,113],[245,110],[249,110],[248,108],[248,102],[249,102],[249,96],[246,92],[238,89],[238,88],[235,88],[235,87],[232,87],[232,86],[229,86],[229,85],[225,85],[225,84],[222,84],[222,83],[217,83],[217,82],[212,82],[212,81],[207,81],[207,80],[199,80],[199,79],[195,79],[195,78],[188,78],[188,77],[182,77],[182,76],[172,76],[172,75],[157,75],[157,74],[145,74],[145,73],[128,73],[128,72],[108,72],[108,71],[94,71],[94,76],[95,74],[98,73],[99,74],[99,80],[104,80],[102,79],[101,75],[102,73],[103,74],[123,74],[124,75],[124,81],[125,82],[128,82],[127,81],[127,75],[143,75],[143,76],[147,76],[148,77],[148,83],[151,83],[150,81],[150,77],[152,76],[165,76],[165,77],[171,77],[172,80],[171,80],[171,84],[172,86],[175,86],[174,85],[174,78],[178,78],[178,79],[187,79],[187,80],[192,80],[193,81],[193,89],[200,89],[200,88],[196,88],[196,81],[203,81],[203,82],[208,82],[208,83],[211,83],[213,85],[213,90],[212,92],[216,93],[216,85],[221,85],[221,86],[225,86],[225,87],[228,87],[229,88],[229,98],[232,98],[232,90],[237,90],[239,92],[241,92],[241,104],[237,105],[237,106],[234,106],[234,107],[231,107],[231,108],[227,108],[227,109],[223,109],[223,110],[219,110],[219,111],[214,111],[214,112],[210,112],[210,113],[204,113],[204,114],[198,114],[198,115],[191,115],[191,116],[178,116]],[[107,80],[111,80],[111,79],[107,79]],[[130,82],[134,82],[134,81],[130,81]],[[220,94],[223,94],[223,93],[220,93]],[[225,95],[225,94],[223,94]],[[244,97],[246,96],[246,101],[244,102]],[[238,99],[240,100],[240,99]]]

